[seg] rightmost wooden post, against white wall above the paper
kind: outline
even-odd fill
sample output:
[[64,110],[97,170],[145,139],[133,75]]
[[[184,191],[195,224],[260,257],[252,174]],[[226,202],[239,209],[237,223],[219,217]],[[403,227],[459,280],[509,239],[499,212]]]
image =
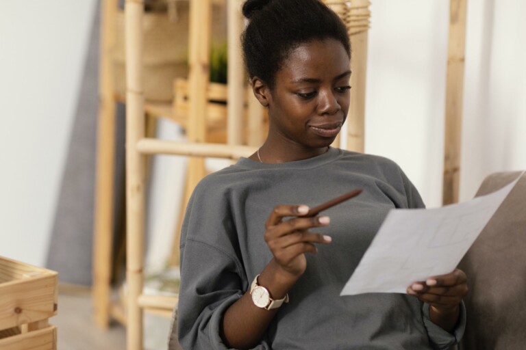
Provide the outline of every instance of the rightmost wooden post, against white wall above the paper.
[[451,0],[449,3],[444,182],[442,188],[442,204],[444,205],[458,202],[465,44],[466,0]]

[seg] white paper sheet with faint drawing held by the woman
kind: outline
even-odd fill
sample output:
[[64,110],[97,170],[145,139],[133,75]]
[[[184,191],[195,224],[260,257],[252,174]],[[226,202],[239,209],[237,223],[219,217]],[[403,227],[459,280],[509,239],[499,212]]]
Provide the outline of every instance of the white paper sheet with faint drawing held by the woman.
[[460,204],[392,209],[340,295],[406,293],[412,282],[450,273],[518,178],[499,191]]

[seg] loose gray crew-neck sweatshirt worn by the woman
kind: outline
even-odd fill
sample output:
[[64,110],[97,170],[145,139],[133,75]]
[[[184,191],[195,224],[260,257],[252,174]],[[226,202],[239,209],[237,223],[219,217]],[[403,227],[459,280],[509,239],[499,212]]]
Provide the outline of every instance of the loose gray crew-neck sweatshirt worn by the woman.
[[289,291],[290,302],[254,349],[449,349],[460,340],[464,310],[450,334],[429,320],[427,304],[410,295],[340,297],[390,208],[424,204],[392,161],[329,148],[288,163],[243,158],[196,187],[181,237],[177,331],[184,349],[227,349],[221,319],[272,258],[264,223],[274,206],[312,207],[357,188],[360,196],[322,213],[331,224],[313,230],[332,242],[306,254],[308,267]]

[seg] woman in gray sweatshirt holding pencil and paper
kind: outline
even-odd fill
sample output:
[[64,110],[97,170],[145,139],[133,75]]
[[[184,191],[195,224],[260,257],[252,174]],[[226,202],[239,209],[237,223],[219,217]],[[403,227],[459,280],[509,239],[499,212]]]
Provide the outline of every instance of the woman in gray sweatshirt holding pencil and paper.
[[[181,237],[185,349],[448,349],[464,327],[466,275],[408,294],[340,297],[390,208],[418,192],[382,157],[329,145],[349,109],[345,25],[318,0],[247,1],[253,93],[268,108],[258,152],[195,189]],[[351,189],[353,200],[301,217]]]

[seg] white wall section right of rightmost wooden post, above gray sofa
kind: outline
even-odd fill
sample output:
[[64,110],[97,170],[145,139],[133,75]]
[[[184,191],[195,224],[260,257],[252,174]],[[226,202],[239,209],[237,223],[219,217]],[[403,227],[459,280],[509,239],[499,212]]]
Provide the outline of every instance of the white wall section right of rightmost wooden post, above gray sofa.
[[526,2],[469,3],[461,198],[486,174],[526,170]]

